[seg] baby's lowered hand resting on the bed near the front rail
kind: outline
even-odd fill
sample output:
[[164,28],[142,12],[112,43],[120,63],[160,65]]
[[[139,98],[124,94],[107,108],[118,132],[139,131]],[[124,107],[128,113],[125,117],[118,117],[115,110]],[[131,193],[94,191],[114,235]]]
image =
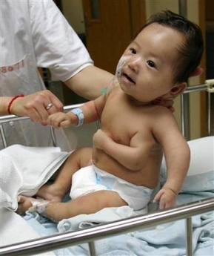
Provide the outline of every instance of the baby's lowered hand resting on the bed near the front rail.
[[170,188],[162,188],[160,191],[158,191],[158,194],[156,194],[153,201],[159,201],[159,208],[161,210],[172,208],[176,203],[176,194]]

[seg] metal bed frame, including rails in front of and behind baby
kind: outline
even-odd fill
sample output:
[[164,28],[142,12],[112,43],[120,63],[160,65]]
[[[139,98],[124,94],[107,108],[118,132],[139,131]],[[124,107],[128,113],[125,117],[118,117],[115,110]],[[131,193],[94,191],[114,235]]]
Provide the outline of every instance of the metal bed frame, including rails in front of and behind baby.
[[[207,91],[208,111],[207,122],[208,131],[207,135],[211,135],[211,96],[210,93],[214,92],[214,79],[207,80],[204,85],[193,85],[187,88],[184,94],[191,93],[193,91]],[[185,116],[184,116],[184,99],[181,96],[181,130],[185,134]],[[81,105],[81,104],[80,104]],[[64,107],[64,111],[76,108],[79,105],[70,105]],[[4,146],[7,147],[7,140],[4,136],[4,129],[2,123],[16,121],[21,119],[27,119],[27,117],[20,116],[0,116],[0,132],[4,142]],[[56,145],[53,130],[50,129],[53,134],[53,144]],[[81,243],[88,243],[89,252],[91,256],[96,255],[95,241],[107,237],[112,237],[118,234],[124,234],[127,232],[133,232],[138,229],[147,229],[162,223],[168,223],[174,220],[185,219],[186,222],[186,251],[187,255],[193,255],[193,228],[192,217],[196,214],[202,214],[214,209],[214,197],[206,200],[196,201],[194,203],[188,203],[186,205],[178,206],[175,209],[168,209],[164,211],[156,211],[151,214],[140,215],[138,217],[130,217],[124,220],[118,220],[112,223],[96,226],[89,229],[79,230],[77,232],[66,232],[63,234],[55,234],[48,237],[42,237],[36,240],[29,240],[27,242],[16,243],[9,246],[0,247],[0,255],[35,255],[39,253],[54,251],[56,249],[65,248],[67,246],[76,246]]]

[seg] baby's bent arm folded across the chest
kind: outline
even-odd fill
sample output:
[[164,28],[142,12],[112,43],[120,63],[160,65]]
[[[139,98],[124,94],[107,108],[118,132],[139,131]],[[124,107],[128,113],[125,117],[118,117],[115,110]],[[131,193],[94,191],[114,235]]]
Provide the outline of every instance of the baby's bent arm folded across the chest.
[[103,150],[110,157],[132,171],[139,171],[147,163],[153,139],[147,133],[137,133],[131,138],[130,145],[122,145],[114,141],[104,131],[98,130],[93,136],[93,145]]

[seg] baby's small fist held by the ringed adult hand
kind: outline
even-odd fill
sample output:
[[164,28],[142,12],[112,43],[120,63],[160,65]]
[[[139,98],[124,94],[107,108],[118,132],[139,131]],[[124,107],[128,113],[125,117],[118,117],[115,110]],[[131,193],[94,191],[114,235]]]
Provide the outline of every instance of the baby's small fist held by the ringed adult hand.
[[51,125],[55,128],[68,128],[72,124],[72,117],[69,116],[69,114],[65,114],[63,112],[52,114],[47,118],[47,125]]

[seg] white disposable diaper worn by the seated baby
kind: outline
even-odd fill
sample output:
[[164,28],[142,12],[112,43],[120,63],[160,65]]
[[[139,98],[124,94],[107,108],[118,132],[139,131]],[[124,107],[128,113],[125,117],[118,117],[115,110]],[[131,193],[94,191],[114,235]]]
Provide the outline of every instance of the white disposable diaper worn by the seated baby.
[[153,189],[128,183],[95,165],[81,168],[73,174],[70,189],[71,199],[99,190],[116,191],[134,210],[140,210],[147,206],[153,193]]

